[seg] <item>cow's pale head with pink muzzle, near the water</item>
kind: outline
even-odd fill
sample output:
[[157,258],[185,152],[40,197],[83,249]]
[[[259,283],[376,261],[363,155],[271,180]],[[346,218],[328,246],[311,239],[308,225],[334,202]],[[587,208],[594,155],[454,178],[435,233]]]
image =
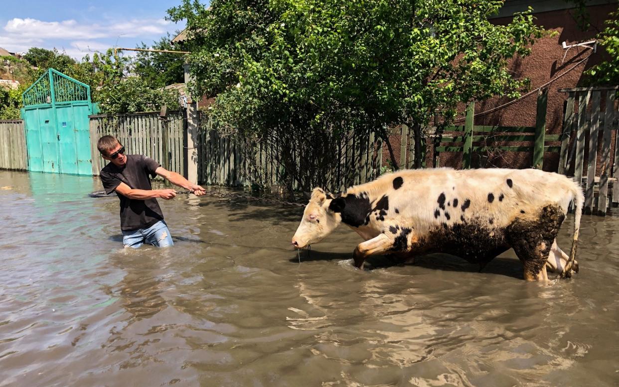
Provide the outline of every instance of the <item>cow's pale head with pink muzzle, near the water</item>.
[[297,249],[320,242],[339,226],[342,216],[329,210],[331,200],[332,198],[327,198],[322,189],[314,188],[309,203],[303,211],[301,224],[295,236],[292,237],[292,244]]

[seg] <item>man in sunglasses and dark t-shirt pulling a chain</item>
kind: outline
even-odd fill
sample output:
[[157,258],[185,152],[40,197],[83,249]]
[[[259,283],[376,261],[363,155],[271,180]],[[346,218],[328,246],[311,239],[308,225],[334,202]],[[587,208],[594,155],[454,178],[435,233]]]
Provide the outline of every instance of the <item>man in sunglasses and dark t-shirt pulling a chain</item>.
[[156,198],[170,200],[176,196],[176,191],[152,189],[150,176],[159,175],[172,184],[193,191],[197,196],[206,194],[204,188],[192,184],[176,172],[162,168],[150,157],[125,155],[123,145],[115,137],[99,138],[97,148],[103,158],[110,161],[103,167],[100,176],[105,193],[116,191],[120,199],[120,226],[124,246],[137,249],[144,243],[157,247],[173,245],[170,230],[163,220]]

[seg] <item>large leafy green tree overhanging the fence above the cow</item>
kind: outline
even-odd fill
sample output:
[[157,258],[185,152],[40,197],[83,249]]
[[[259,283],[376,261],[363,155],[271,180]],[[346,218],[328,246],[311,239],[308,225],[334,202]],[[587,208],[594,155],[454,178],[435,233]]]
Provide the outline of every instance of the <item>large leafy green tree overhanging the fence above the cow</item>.
[[[508,61],[527,56],[542,29],[530,10],[507,25],[488,22],[502,5],[214,0],[207,9],[184,0],[168,14],[187,20],[191,90],[217,96],[211,116],[222,132],[309,139],[324,129],[378,131],[387,140],[392,125],[407,123],[420,139],[432,117],[447,125],[460,103],[519,96],[527,80],[514,79]],[[308,188],[315,179],[298,182]]]

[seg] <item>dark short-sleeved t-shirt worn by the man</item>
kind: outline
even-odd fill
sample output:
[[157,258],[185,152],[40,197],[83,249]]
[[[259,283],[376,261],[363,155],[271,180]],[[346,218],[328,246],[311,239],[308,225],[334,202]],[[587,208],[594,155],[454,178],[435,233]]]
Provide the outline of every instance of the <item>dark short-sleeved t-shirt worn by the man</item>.
[[[127,163],[118,167],[107,164],[100,176],[106,194],[110,194],[121,182],[131,189],[152,189],[150,176],[155,177],[155,170],[160,165],[154,159],[142,155],[127,155]],[[150,175],[150,176],[149,176]],[[120,226],[123,231],[149,228],[160,220],[163,213],[157,199],[130,199],[116,192],[120,199]]]

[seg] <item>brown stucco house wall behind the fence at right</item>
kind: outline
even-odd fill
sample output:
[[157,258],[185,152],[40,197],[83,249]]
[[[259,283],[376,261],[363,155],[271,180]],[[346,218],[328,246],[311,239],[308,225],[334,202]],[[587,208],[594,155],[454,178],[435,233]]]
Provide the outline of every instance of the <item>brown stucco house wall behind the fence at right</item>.
[[[547,134],[560,134],[563,125],[563,110],[567,93],[561,93],[561,88],[573,88],[581,86],[582,72],[591,66],[599,63],[606,55],[603,50],[597,49],[597,53],[592,53],[591,49],[583,47],[573,47],[568,50],[565,56],[565,49],[561,46],[563,41],[567,45],[581,43],[592,40],[599,31],[604,28],[604,21],[610,12],[617,10],[617,4],[605,4],[601,6],[587,7],[591,18],[591,28],[582,31],[578,28],[576,19],[573,16],[573,9],[563,9],[560,11],[540,12],[534,14],[537,25],[543,26],[548,31],[556,32],[555,36],[545,36],[532,47],[532,53],[526,58],[517,58],[510,62],[509,67],[514,71],[515,77],[528,77],[531,89],[540,87],[554,77],[562,74],[574,66],[578,61],[588,57],[586,61],[571,70],[568,74],[548,85],[548,106],[546,116]],[[508,23],[510,18],[493,19],[491,22],[498,25]],[[589,56],[591,54],[591,56]],[[503,126],[534,126],[535,113],[537,106],[537,95],[532,95],[518,101],[517,103],[501,108],[490,114],[483,114],[496,106],[500,106],[509,101],[509,98],[495,98],[475,104],[475,125],[503,125]],[[462,114],[464,116],[464,105]],[[464,119],[458,122],[464,124]],[[399,136],[392,137],[394,151],[399,159]],[[615,143],[613,138],[613,144]],[[428,141],[428,153],[426,155],[426,165],[433,165],[433,152],[431,141]],[[383,153],[384,161],[387,155]],[[532,155],[526,152],[508,152],[496,155],[488,159],[486,166],[509,167],[509,168],[528,168]],[[461,168],[461,153],[441,153],[441,166],[451,166]],[[475,164],[475,160],[474,160]],[[598,163],[599,164],[599,163]],[[556,171],[558,166],[558,154],[546,153],[543,169],[546,171]]]

